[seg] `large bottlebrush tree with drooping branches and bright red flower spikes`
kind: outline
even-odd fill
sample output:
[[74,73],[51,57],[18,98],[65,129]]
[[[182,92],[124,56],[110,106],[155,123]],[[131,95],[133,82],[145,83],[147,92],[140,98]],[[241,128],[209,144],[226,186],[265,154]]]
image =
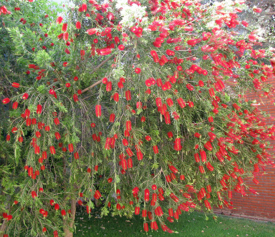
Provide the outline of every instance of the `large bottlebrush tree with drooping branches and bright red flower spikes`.
[[272,95],[275,54],[234,31],[244,1],[5,4],[0,236],[72,236],[94,200],[170,233],[256,193],[244,178],[273,165],[275,126],[245,95]]

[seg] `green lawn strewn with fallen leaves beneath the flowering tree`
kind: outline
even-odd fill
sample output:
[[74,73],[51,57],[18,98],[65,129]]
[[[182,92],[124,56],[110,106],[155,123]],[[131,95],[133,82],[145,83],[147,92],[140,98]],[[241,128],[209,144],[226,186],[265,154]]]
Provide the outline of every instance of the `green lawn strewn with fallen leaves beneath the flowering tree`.
[[[169,234],[162,231],[151,232],[149,227],[148,235],[143,231],[143,219],[135,216],[127,220],[126,217],[112,217],[110,214],[100,217],[98,209],[92,210],[91,218],[85,212],[78,209],[76,221],[78,226],[74,237],[136,237],[136,236],[178,236],[178,237],[275,237],[275,224],[271,222],[256,222],[248,219],[240,219],[227,216],[218,216],[215,222],[211,216],[205,220],[200,212],[184,213],[178,222],[168,225],[171,229],[178,231],[178,234]],[[83,218],[83,219],[82,219]]]

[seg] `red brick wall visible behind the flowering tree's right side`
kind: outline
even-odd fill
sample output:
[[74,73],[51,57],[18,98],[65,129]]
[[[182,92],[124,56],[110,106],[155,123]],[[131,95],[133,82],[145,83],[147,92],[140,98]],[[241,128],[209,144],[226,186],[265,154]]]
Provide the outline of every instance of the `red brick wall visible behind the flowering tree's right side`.
[[[269,78],[268,82],[275,86],[275,78]],[[250,93],[248,99],[252,101],[256,99],[258,103],[261,103],[261,105],[259,105],[261,110],[266,111],[275,117],[275,106],[270,102],[270,99],[262,98],[261,101],[255,93]],[[271,99],[275,100],[274,97]],[[269,120],[267,121],[267,124],[275,124],[275,122]],[[270,142],[275,145],[274,140],[271,140]],[[259,193],[258,195],[248,191],[248,196],[242,197],[240,193],[233,191],[232,202],[236,209],[230,210],[216,208],[215,213],[275,222],[275,168],[267,166],[266,173],[267,174],[264,174],[263,176],[255,177],[259,181],[258,185],[252,181],[246,180],[249,186]]]

